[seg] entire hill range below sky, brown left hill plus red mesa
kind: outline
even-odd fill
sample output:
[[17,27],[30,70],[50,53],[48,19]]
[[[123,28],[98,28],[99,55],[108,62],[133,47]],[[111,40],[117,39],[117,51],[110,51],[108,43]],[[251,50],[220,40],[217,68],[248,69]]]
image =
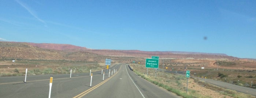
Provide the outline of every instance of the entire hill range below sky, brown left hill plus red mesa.
[[[86,55],[97,54],[103,56],[144,57],[159,56],[172,59],[239,59],[222,53],[177,52],[177,51],[141,51],[141,50],[107,50],[88,49],[70,44],[47,44],[30,42],[3,42],[0,41],[2,57],[23,59],[80,59],[79,53]],[[77,53],[78,52],[78,53]],[[70,57],[70,53],[72,57]],[[36,55],[35,55],[36,54]],[[69,56],[69,57],[67,57]],[[96,57],[96,55],[94,55]]]

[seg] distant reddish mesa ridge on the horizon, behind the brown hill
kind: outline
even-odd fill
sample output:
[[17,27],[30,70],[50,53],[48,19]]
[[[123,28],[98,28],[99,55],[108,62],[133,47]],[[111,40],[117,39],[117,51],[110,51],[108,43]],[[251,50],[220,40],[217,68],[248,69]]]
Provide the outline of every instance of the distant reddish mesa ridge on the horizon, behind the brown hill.
[[37,44],[27,43],[45,49],[64,50],[69,52],[82,51],[91,52],[107,56],[134,56],[134,57],[151,57],[160,56],[162,58],[194,58],[194,59],[238,59],[237,57],[227,56],[223,53],[201,53],[201,52],[179,52],[179,51],[141,51],[141,50],[108,50],[108,49],[88,49],[81,46],[70,44]]

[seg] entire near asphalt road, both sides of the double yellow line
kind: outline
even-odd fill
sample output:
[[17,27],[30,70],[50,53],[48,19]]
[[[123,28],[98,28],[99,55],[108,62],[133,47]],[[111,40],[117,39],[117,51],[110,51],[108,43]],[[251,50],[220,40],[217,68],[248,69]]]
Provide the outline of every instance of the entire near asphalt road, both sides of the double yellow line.
[[49,95],[49,80],[53,76],[51,98],[179,98],[152,83],[140,78],[127,68],[126,64],[111,66],[117,69],[108,78],[108,73],[92,72],[92,87],[89,73],[66,75],[41,75],[0,77],[0,98],[47,98]]

